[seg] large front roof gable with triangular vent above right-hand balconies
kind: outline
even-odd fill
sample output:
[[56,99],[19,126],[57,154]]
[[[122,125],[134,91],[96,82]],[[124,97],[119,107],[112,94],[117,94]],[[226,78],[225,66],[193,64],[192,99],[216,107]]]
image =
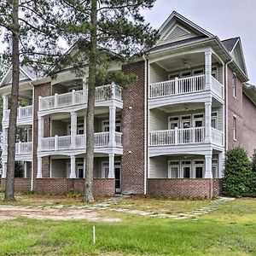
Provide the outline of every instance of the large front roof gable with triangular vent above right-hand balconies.
[[206,37],[210,38],[213,35],[195,23],[186,19],[177,12],[172,12],[172,15],[160,26],[160,39],[156,45],[170,44],[173,42],[186,40],[189,38]]

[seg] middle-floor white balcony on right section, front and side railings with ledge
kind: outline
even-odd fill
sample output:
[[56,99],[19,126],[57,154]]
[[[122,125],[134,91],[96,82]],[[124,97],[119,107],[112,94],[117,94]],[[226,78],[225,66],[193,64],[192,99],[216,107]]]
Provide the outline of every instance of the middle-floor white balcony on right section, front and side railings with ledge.
[[[186,129],[150,131],[149,132],[149,154],[152,155],[171,153],[190,154],[195,150],[203,150],[205,143],[205,127],[193,127]],[[222,131],[212,128],[211,143],[217,147],[223,147],[224,135]],[[200,145],[200,148],[198,146]],[[190,148],[189,148],[190,147]],[[153,155],[154,154],[154,155]]]

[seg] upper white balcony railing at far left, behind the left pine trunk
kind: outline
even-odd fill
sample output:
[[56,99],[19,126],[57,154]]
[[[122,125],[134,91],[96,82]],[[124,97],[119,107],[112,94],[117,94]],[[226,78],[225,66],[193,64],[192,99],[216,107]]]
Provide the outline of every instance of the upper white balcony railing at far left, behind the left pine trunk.
[[[9,125],[9,112],[10,110],[5,110],[3,113],[3,125]],[[17,108],[17,124],[18,125],[32,125],[33,117],[33,106],[19,107]]]

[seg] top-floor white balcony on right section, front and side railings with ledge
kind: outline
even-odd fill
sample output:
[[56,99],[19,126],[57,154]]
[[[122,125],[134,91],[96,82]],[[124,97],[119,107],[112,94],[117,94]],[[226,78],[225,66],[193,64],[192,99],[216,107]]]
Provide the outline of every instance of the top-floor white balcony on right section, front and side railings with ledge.
[[[149,102],[174,99],[176,96],[198,96],[198,93],[206,91],[206,76],[191,76],[183,79],[172,79],[159,83],[149,84]],[[209,90],[209,89],[208,89]],[[212,76],[212,94],[223,99],[223,85]]]

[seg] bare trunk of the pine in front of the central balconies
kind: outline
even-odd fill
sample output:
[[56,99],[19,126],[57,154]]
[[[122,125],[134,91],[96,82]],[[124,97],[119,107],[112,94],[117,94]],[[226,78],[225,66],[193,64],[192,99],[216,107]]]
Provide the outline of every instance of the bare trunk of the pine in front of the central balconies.
[[96,90],[96,22],[97,22],[97,0],[91,0],[90,10],[90,55],[89,55],[89,78],[88,78],[88,101],[86,118],[86,154],[85,154],[85,180],[84,199],[93,202],[92,183],[94,166],[94,108]]

